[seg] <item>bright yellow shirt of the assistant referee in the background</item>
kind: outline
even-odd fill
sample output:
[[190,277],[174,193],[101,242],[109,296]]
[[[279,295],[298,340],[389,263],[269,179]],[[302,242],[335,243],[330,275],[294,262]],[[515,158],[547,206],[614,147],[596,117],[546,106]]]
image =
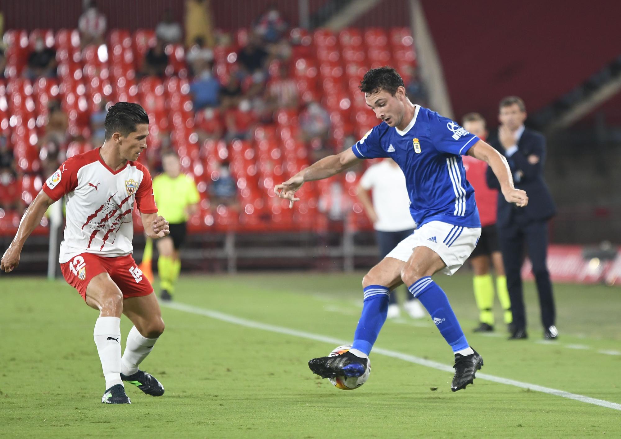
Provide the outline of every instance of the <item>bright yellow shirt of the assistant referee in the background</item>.
[[186,208],[201,200],[194,180],[186,174],[179,174],[175,179],[166,173],[158,175],[153,179],[153,196],[158,215],[171,224],[188,221]]

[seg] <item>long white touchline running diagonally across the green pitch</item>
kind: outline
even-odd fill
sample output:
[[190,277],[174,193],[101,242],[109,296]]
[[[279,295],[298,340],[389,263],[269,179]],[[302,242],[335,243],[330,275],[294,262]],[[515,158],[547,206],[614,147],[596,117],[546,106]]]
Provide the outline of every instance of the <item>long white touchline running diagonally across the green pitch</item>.
[[[230,314],[220,313],[219,311],[212,311],[211,309],[198,308],[197,306],[187,305],[178,302],[160,302],[161,306],[166,308],[176,309],[178,311],[185,311],[186,313],[198,314],[199,316],[211,317],[223,322],[229,322],[232,324],[245,326],[255,329],[263,329],[270,332],[276,332],[278,334],[292,335],[294,337],[300,337],[302,339],[315,340],[317,342],[331,343],[335,345],[348,344],[346,340],[335,339],[334,337],[327,337],[326,335],[312,334],[311,332],[304,332],[302,330],[286,328],[282,326],[274,326],[266,323],[255,322],[252,320],[242,319],[241,317],[231,316]],[[409,361],[421,366],[427,366],[433,369],[442,370],[445,372],[452,372],[453,367],[447,366],[437,361],[425,360],[425,358],[414,357],[414,355],[407,355],[406,353],[396,352],[394,350],[373,348],[374,353],[386,355],[386,357],[399,358],[399,360]],[[594,404],[595,406],[606,407],[607,409],[621,410],[621,404],[616,402],[604,401],[603,399],[596,399],[589,396],[578,395],[575,393],[565,392],[562,390],[551,389],[549,387],[537,386],[537,384],[522,383],[522,381],[515,381],[515,379],[501,378],[500,376],[487,375],[486,373],[479,373],[477,378],[486,379],[487,381],[493,381],[494,383],[507,384],[509,386],[515,386],[522,389],[530,389],[537,392],[543,392],[550,395],[560,396],[563,398],[574,399],[580,402],[586,402],[587,404]]]

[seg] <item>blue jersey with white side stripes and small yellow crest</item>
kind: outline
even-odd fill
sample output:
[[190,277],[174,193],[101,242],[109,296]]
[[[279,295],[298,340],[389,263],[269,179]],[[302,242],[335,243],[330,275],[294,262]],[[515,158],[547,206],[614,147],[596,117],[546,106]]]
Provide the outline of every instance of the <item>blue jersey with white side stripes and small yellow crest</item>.
[[382,122],[351,147],[356,157],[390,157],[406,175],[410,213],[417,226],[443,221],[481,227],[474,188],[466,180],[461,155],[479,138],[432,110],[415,106],[404,131]]

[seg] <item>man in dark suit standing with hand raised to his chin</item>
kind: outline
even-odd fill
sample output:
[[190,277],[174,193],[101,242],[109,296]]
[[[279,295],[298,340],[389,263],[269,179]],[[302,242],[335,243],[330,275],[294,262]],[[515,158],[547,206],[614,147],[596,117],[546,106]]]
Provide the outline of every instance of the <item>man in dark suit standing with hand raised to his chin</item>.
[[[550,273],[546,266],[548,251],[548,220],[555,215],[550,191],[543,180],[545,138],[537,131],[524,127],[526,107],[517,96],[501,100],[498,135],[489,143],[507,157],[513,174],[515,188],[528,193],[528,205],[519,208],[507,203],[499,193],[497,228],[502,259],[507,275],[507,288],[511,299],[513,323],[509,339],[525,339],[526,316],[520,268],[524,256],[524,243],[533,265],[535,282],[543,323],[543,337],[556,339],[555,305]],[[487,185],[500,189],[493,172],[487,170]]]

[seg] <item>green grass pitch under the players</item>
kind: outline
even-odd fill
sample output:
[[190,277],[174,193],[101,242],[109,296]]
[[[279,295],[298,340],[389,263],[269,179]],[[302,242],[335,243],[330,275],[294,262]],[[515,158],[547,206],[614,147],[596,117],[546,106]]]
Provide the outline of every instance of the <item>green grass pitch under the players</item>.
[[[621,411],[478,378],[451,392],[450,372],[371,353],[360,389],[341,391],[307,361],[335,345],[201,315],[351,340],[362,273],[182,275],[166,331],[142,364],[166,394],[127,386],[131,406],[101,404],[93,343],[96,311],[63,281],[0,276],[0,436],[96,438],[560,438],[620,437]],[[473,334],[468,273],[437,276],[481,372],[621,404],[621,291],[555,285],[556,342],[542,340],[537,297],[526,284],[529,340]],[[402,292],[401,292],[402,293]],[[403,293],[402,293],[403,294]],[[229,318],[226,317],[225,318]],[[497,323],[501,313],[497,309]],[[130,329],[122,319],[122,338]],[[430,319],[388,321],[376,344],[452,365]],[[437,388],[437,389],[436,389]],[[435,390],[433,390],[435,389]]]

